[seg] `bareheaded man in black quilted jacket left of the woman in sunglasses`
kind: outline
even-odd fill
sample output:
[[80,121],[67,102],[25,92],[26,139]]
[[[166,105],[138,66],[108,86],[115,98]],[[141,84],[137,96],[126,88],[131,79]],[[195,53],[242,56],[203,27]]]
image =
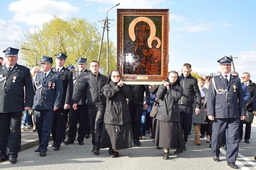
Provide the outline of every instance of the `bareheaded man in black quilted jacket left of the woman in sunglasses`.
[[76,110],[77,103],[82,99],[83,94],[86,94],[91,135],[93,136],[93,149],[91,151],[97,155],[100,149],[100,139],[106,108],[106,97],[101,92],[101,88],[108,81],[105,75],[99,73],[99,69],[99,62],[95,60],[90,62],[91,73],[83,79],[73,104],[73,109]]

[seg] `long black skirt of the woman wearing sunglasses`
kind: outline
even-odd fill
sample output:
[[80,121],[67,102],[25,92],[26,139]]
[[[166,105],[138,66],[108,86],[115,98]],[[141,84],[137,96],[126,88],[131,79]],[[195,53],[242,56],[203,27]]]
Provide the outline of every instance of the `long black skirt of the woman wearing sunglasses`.
[[123,126],[113,124],[103,124],[100,148],[110,148],[114,150],[135,147],[132,134],[131,123]]

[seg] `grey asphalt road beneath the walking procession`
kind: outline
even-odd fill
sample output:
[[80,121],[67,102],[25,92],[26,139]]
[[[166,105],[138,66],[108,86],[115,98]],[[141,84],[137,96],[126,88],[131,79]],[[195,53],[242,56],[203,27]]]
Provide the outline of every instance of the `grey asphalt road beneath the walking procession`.
[[[212,152],[209,143],[206,143],[206,138],[201,139],[201,146],[197,146],[194,142],[195,134],[191,134],[186,144],[187,151],[174,154],[175,149],[171,149],[169,159],[164,160],[162,159],[163,149],[156,149],[150,136],[151,134],[147,134],[145,140],[141,139],[142,145],[139,147],[120,150],[118,158],[111,158],[108,149],[101,149],[99,155],[92,153],[91,136],[84,140],[85,145],[83,146],[78,145],[76,140],[72,145],[61,145],[59,151],[53,151],[51,141],[45,157],[40,157],[38,152],[34,152],[38,147],[36,146],[19,152],[16,164],[11,164],[9,161],[0,163],[0,169],[231,169],[227,165],[224,150],[219,155],[220,162],[213,161]],[[245,143],[243,139],[239,143],[239,155],[236,164],[241,169],[256,168],[256,160],[254,160],[254,154],[256,153],[255,124],[252,124],[250,142],[250,144]]]

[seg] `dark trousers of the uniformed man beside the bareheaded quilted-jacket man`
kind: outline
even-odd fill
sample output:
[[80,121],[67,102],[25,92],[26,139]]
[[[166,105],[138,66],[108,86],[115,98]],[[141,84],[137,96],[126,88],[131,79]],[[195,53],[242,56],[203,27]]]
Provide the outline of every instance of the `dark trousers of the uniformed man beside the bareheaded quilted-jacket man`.
[[77,120],[79,120],[77,141],[84,141],[87,127],[88,107],[87,104],[79,104],[74,110],[70,107],[68,140],[74,141],[77,132]]

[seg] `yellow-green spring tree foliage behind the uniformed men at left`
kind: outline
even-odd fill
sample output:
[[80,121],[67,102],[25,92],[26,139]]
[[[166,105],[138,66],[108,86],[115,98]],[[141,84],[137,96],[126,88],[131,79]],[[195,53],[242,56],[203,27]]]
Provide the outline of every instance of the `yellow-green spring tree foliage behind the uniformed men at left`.
[[[40,66],[42,56],[53,57],[55,67],[55,54],[63,53],[68,57],[65,66],[73,64],[79,57],[87,58],[87,68],[92,60],[98,60],[101,33],[96,23],[88,22],[85,18],[73,17],[62,20],[54,16],[42,26],[35,26],[32,30],[25,30],[15,39],[17,48],[29,50],[19,51],[19,62],[32,68]],[[103,41],[100,57],[100,67],[106,74],[106,41]],[[114,43],[109,41],[109,70],[116,69],[116,50]]]

